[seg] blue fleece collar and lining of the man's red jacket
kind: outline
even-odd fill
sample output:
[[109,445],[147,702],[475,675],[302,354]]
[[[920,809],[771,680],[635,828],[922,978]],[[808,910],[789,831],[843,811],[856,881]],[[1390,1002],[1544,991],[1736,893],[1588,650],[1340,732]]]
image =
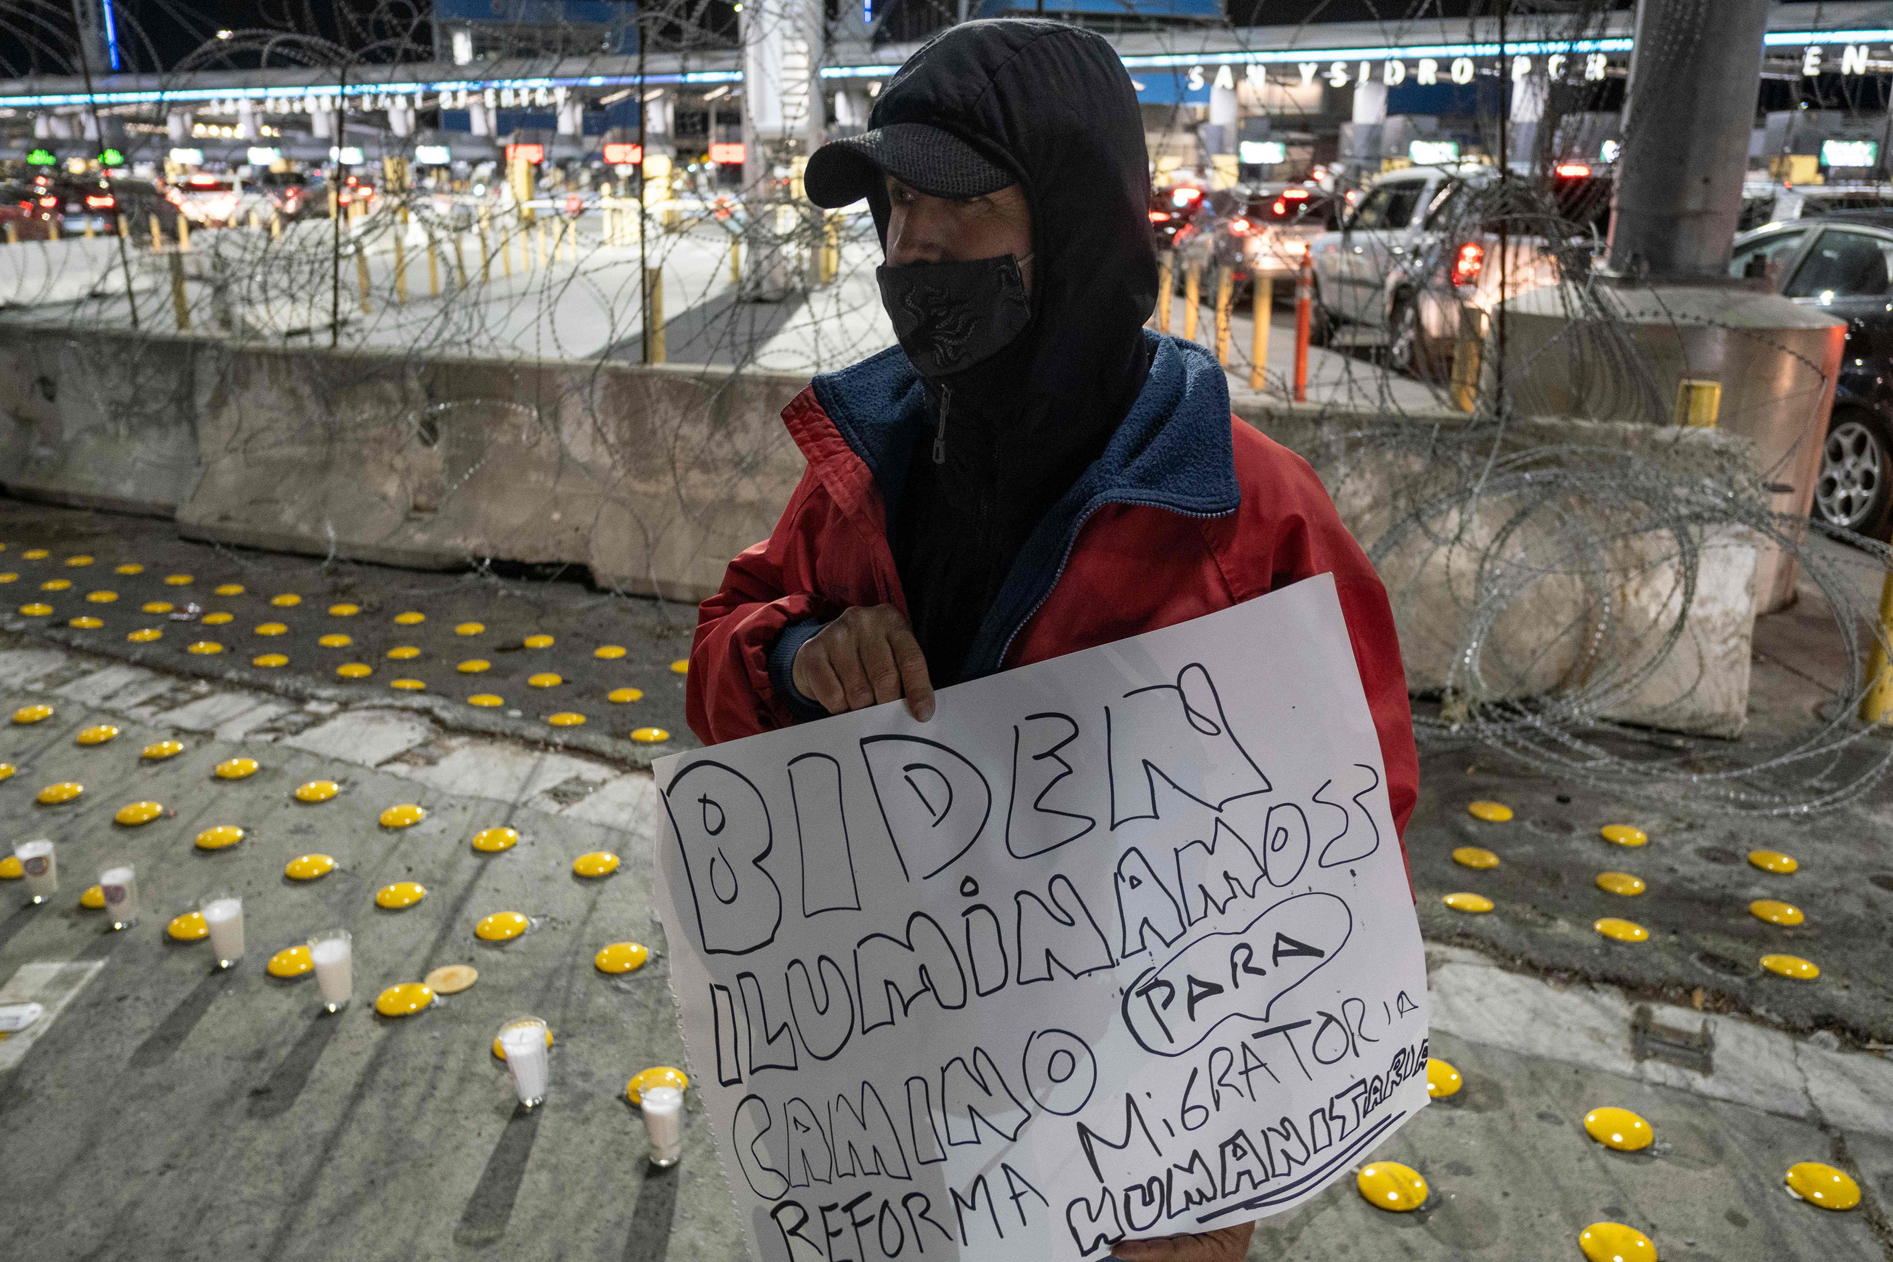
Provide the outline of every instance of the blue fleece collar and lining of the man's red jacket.
[[[967,653],[964,679],[1000,668],[1013,636],[1064,573],[1085,520],[1107,503],[1223,517],[1242,501],[1229,378],[1208,350],[1145,329],[1151,373],[1104,454],[1026,539]],[[892,522],[928,401],[899,346],[814,378],[816,401],[880,486]],[[946,681],[937,681],[946,683]]]

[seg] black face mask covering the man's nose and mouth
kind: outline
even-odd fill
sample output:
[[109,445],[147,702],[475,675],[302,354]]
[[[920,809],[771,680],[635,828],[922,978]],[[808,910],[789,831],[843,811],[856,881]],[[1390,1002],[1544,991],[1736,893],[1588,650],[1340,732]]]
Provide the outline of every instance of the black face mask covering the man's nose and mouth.
[[[1030,254],[1026,255],[1032,257]],[[1020,259],[876,267],[880,305],[922,377],[950,377],[990,359],[1032,322]]]

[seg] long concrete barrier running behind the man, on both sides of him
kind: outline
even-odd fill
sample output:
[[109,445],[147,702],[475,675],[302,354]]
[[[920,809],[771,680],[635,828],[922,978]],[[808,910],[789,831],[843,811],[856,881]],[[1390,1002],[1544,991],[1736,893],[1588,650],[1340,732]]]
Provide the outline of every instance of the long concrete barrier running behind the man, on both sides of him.
[[[780,411],[806,382],[789,375],[102,331],[9,329],[0,348],[0,482],[174,515],[195,539],[422,568],[562,562],[617,590],[700,600],[769,535],[803,473]],[[1516,422],[1494,456],[1509,471],[1539,460],[1566,490],[1514,479],[1471,498],[1467,445],[1437,460],[1389,441],[1401,426],[1465,433],[1460,412],[1236,407],[1327,481],[1393,596],[1416,691],[1742,730],[1755,541],[1677,532],[1662,505],[1611,484],[1622,467],[1753,490],[1742,439]]]

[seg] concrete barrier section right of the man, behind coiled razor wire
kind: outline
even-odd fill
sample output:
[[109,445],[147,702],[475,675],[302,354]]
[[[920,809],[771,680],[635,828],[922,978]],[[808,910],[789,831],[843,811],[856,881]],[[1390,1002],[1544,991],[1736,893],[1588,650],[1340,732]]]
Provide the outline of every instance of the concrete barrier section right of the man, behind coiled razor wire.
[[1668,503],[1672,486],[1762,503],[1742,437],[1577,418],[1516,420],[1492,437],[1463,412],[1236,407],[1335,496],[1388,585],[1412,691],[1742,732],[1757,537],[1713,509],[1707,524],[1679,520]]

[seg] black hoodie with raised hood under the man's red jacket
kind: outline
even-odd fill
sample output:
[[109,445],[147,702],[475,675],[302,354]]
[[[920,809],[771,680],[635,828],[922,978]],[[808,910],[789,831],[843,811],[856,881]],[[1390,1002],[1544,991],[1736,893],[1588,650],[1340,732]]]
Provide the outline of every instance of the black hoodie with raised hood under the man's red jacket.
[[[1149,165],[1117,53],[1062,23],[979,21],[928,42],[875,102],[869,127],[895,123],[958,136],[1015,172],[1032,208],[1030,324],[990,359],[926,382],[928,424],[882,477],[914,634],[933,681],[950,683],[1022,545],[1143,388]],[[886,244],[882,185],[869,206]]]

